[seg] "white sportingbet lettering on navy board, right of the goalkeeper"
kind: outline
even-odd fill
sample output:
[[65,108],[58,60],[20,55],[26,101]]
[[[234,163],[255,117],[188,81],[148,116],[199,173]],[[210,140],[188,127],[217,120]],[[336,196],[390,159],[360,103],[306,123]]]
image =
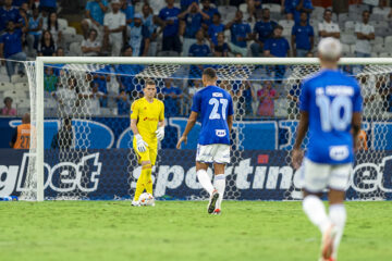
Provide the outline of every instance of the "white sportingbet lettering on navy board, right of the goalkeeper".
[[[358,194],[392,192],[392,177],[384,173],[387,167],[392,169],[392,156],[383,158],[379,165],[368,162],[356,165],[351,175],[348,188]],[[133,171],[135,181],[139,173],[140,167]],[[162,197],[170,190],[184,189],[184,185],[186,189],[201,189],[194,166],[186,169],[182,165],[160,165],[154,173],[156,175],[152,178],[156,185],[154,192],[156,197]],[[210,170],[208,174],[212,178]],[[226,167],[225,175],[228,178],[233,176],[230,179],[234,179],[234,189],[240,192],[281,190],[285,191],[285,197],[302,198],[301,171],[295,171],[290,165],[278,166],[267,162],[253,165],[250,159],[244,159],[236,166]],[[135,188],[136,182],[133,182],[131,186]]]

